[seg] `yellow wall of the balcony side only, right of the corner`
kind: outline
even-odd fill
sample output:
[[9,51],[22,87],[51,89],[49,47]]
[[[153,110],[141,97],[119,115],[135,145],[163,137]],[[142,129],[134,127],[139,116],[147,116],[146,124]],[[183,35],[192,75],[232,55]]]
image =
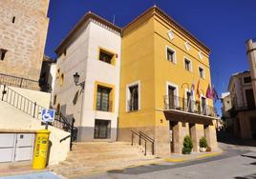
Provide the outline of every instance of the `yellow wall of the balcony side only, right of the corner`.
[[[192,40],[185,37],[180,31],[174,27],[164,23],[159,17],[155,16],[154,19],[155,35],[154,46],[155,48],[155,78],[156,78],[156,109],[164,108],[163,96],[166,95],[166,82],[171,82],[179,87],[179,97],[185,97],[185,89],[191,88],[194,81],[195,93],[197,84],[200,80],[200,91],[205,95],[208,84],[210,84],[210,69],[208,54],[203,53],[203,59],[199,57],[199,51],[203,51],[200,47],[193,45]],[[168,30],[174,31],[174,39],[170,40],[167,34]],[[190,50],[186,50],[184,43],[189,42]],[[176,61],[174,64],[166,59],[166,46],[176,51]],[[192,71],[184,69],[184,60],[186,57],[192,62]],[[205,79],[199,76],[199,66],[203,67]],[[196,95],[196,94],[195,94]],[[196,100],[199,98],[196,95]],[[212,100],[207,99],[207,104],[212,105]],[[156,112],[157,126],[168,125],[166,120],[160,123],[160,119],[165,119],[163,112]]]

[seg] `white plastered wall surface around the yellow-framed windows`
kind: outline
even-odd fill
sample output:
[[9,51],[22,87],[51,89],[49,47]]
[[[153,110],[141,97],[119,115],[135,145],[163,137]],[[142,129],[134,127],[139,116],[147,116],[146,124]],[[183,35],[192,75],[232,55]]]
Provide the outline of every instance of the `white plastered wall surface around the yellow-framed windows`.
[[[115,66],[98,60],[99,48],[117,53]],[[90,20],[76,33],[66,56],[62,54],[58,57],[56,70],[60,69],[60,73],[64,73],[65,81],[60,87],[56,80],[54,94],[57,94],[57,103],[63,107],[64,113],[74,114],[76,127],[94,128],[95,119],[98,118],[111,120],[111,127],[117,128],[120,50],[120,34]],[[85,81],[83,92],[80,87],[75,87],[75,72],[79,73],[80,82]],[[114,112],[93,110],[96,81],[115,86]]]

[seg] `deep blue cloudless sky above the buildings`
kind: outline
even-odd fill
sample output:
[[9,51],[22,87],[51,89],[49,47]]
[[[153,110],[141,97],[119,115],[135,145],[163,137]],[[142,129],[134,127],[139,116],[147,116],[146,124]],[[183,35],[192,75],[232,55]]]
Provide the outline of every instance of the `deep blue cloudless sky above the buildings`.
[[[141,12],[157,5],[210,50],[212,84],[227,91],[230,76],[248,70],[245,41],[256,38],[256,0],[51,0],[45,53],[54,50],[88,11],[124,27]],[[220,113],[221,103],[216,107]]]

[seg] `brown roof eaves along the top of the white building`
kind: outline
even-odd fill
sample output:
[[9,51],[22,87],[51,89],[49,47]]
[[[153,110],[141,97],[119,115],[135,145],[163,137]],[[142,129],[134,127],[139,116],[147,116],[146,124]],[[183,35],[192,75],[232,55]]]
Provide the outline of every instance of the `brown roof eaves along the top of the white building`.
[[89,11],[87,12],[80,20],[79,22],[75,25],[74,29],[69,32],[67,37],[60,43],[60,45],[57,47],[55,50],[55,53],[59,55],[69,44],[69,42],[72,40],[73,36],[75,33],[82,28],[82,26],[89,20],[89,19],[94,19],[99,23],[102,23],[103,25],[113,29],[117,30],[117,32],[121,33],[121,29],[117,27],[116,25],[112,24],[111,22],[107,21],[106,19],[96,15],[95,13]]

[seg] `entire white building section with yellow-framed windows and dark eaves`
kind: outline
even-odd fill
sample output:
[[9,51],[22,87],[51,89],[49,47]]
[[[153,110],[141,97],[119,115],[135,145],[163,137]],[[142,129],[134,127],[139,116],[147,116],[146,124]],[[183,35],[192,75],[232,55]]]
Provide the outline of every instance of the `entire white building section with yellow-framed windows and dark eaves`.
[[120,50],[121,29],[92,12],[55,50],[53,106],[75,118],[78,141],[117,138]]

